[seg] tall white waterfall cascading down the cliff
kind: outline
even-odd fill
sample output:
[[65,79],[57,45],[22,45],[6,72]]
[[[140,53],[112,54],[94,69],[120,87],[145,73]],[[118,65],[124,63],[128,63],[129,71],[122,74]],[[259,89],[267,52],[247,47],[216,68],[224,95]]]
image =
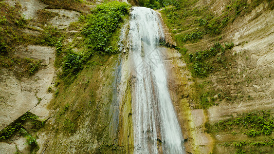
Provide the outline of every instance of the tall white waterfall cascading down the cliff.
[[135,76],[132,85],[134,153],[185,153],[158,47],[164,37],[154,10],[133,8],[128,43]]

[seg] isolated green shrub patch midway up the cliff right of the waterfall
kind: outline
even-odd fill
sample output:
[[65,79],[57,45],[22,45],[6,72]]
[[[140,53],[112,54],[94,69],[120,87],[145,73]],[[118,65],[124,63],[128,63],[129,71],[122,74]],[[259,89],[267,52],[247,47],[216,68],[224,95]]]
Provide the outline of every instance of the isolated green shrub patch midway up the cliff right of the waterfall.
[[[225,51],[231,49],[234,44],[225,43],[225,48],[221,43],[214,43],[214,46],[208,50],[198,51],[189,54],[189,68],[193,76],[204,78],[210,72],[216,69],[216,64],[221,64],[227,68]],[[214,65],[213,65],[214,64]]]

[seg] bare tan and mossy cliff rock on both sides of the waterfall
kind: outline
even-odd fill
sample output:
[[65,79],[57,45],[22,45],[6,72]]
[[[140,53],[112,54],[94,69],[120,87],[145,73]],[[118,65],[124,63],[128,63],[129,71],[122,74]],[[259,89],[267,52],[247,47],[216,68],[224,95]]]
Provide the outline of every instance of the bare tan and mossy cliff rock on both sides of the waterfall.
[[[0,3],[18,8],[22,11],[22,16],[26,14],[24,18],[27,24],[25,27],[20,27],[20,32],[18,32],[23,35],[16,33],[18,36],[24,39],[26,36],[33,39],[46,37],[46,34],[53,33],[48,30],[48,25],[56,26],[57,31],[64,35],[63,48],[72,48],[74,52],[86,48],[77,45],[81,44],[82,36],[80,28],[77,27],[79,25],[74,22],[78,21],[81,15],[89,13],[90,8],[100,4],[100,2],[86,1],[75,7],[70,4],[64,4],[61,7],[53,5],[51,1],[42,3],[36,0],[1,1]],[[137,1],[131,2],[133,5],[137,3]],[[200,0],[191,4],[190,7],[193,10],[203,10],[201,8],[204,7],[214,16],[222,16],[233,6],[233,3],[234,1]],[[255,152],[273,152],[270,146],[273,140],[272,131],[269,134],[261,132],[260,128],[255,127],[261,123],[243,124],[250,117],[253,121],[258,121],[258,117],[262,117],[265,120],[263,126],[273,129],[273,126],[268,125],[268,122],[273,123],[274,112],[273,3],[269,1],[247,1],[246,3],[248,5],[259,4],[248,11],[242,11],[242,14],[236,16],[233,22],[229,22],[217,35],[205,34],[197,42],[182,43],[178,38],[181,34],[190,34],[196,32],[197,29],[204,30],[195,23],[195,20],[202,16],[184,18],[184,22],[179,26],[181,30],[178,30],[179,28],[172,27],[169,21],[175,21],[176,18],[172,17],[178,14],[167,16],[168,13],[160,11],[167,24],[167,43],[173,45],[177,43],[181,49],[184,47],[188,49],[186,54],[181,50],[178,53],[175,49],[165,49],[168,51],[165,64],[169,72],[170,94],[182,132],[184,132],[188,152],[245,151],[250,153],[252,149],[256,149]],[[3,13],[7,10],[1,11]],[[9,20],[8,17],[7,20]],[[0,23],[2,27],[3,25],[8,26],[7,23],[6,25]],[[116,35],[119,36],[120,32]],[[57,35],[50,35],[52,38],[53,36]],[[172,38],[176,43],[172,41]],[[60,57],[56,55],[58,46],[55,43],[57,44],[57,41],[52,45],[45,44],[45,40],[37,43],[39,40],[32,42],[30,39],[28,43],[17,43],[14,50],[10,51],[12,55],[10,62],[4,61],[1,57],[3,65],[0,67],[0,106],[2,109],[0,130],[20,120],[23,128],[37,139],[40,148],[33,149],[31,145],[25,144],[28,142],[27,138],[16,131],[9,139],[0,142],[0,150],[6,153],[16,151],[23,153],[30,153],[30,151],[37,153],[132,153],[130,87],[131,80],[134,79],[131,79],[129,74],[130,68],[127,68],[126,54],[94,56],[75,76],[73,82],[67,84],[66,82],[69,81],[58,81],[57,78],[62,71],[59,68]],[[223,67],[222,63],[222,67],[213,66],[214,70],[208,76],[199,78],[193,75],[189,53],[194,54],[199,50],[210,49],[216,42],[220,42],[224,47],[224,43],[233,42],[234,44],[234,47],[226,50],[225,53],[217,53],[224,55],[220,58],[225,60],[224,64],[227,68]],[[223,59],[224,57],[226,59]],[[39,69],[33,75],[26,75],[29,71],[26,66],[11,63],[11,60],[15,62],[15,58],[20,62],[26,58],[37,61]],[[24,60],[24,65],[28,59]],[[123,63],[120,63],[121,60]],[[221,65],[219,61],[211,61],[208,63]],[[6,63],[4,65],[4,62],[7,62],[8,66]],[[120,87],[115,87],[115,82],[119,82]],[[201,107],[200,104],[205,102],[211,105]],[[267,110],[270,111],[267,112]],[[22,121],[21,116],[27,111],[37,115],[40,121],[46,120],[44,127],[36,129],[31,119]],[[248,114],[251,112],[254,114]],[[235,124],[236,119],[244,122]],[[254,127],[253,131],[260,131],[260,134],[249,137],[248,132],[252,127]],[[242,145],[238,146],[239,143]],[[258,144],[260,145],[255,146]]]

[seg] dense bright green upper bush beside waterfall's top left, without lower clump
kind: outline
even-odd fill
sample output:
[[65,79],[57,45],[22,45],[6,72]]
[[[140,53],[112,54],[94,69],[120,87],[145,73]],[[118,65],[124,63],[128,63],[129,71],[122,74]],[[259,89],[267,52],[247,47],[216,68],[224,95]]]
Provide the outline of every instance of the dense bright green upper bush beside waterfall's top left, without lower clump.
[[90,48],[101,53],[114,53],[109,41],[122,22],[122,17],[129,14],[126,3],[111,2],[97,6],[92,14],[86,17],[87,25],[82,33],[87,37]]

